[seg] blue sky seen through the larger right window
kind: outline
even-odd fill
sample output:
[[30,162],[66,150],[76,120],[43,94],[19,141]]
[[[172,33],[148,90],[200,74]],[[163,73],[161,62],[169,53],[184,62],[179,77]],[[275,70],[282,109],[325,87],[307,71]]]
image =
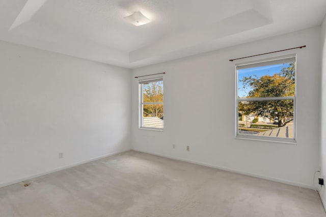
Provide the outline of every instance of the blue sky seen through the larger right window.
[[280,73],[281,69],[283,67],[288,67],[289,64],[277,64],[277,65],[266,65],[266,66],[260,66],[255,68],[245,68],[245,69],[239,69],[238,70],[238,96],[239,97],[246,97],[248,95],[248,92],[251,90],[250,87],[247,87],[246,89],[243,89],[243,84],[240,82],[240,80],[243,77],[248,76],[258,76],[260,78],[261,76],[265,75],[275,75]]

